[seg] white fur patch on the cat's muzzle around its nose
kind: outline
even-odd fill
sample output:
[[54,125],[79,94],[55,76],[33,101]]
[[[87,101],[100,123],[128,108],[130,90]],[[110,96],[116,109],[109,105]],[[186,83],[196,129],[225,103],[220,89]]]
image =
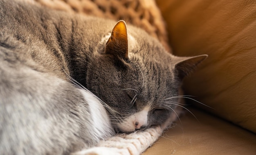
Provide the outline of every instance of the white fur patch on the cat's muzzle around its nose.
[[146,126],[148,122],[149,110],[150,107],[146,106],[142,111],[127,117],[123,122],[118,124],[119,130],[123,132],[132,132],[135,131],[135,129],[141,128],[141,126]]

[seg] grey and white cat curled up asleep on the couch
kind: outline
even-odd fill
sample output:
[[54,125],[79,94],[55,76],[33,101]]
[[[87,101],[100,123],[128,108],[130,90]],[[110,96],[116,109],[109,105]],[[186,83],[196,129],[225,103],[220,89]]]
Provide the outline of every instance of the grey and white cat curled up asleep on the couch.
[[1,0],[0,154],[68,154],[162,124],[206,57],[173,56],[124,21]]

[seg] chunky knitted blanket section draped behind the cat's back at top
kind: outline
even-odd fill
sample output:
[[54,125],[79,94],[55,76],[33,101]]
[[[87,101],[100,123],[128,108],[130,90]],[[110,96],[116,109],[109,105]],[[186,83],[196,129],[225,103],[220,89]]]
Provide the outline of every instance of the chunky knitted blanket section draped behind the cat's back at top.
[[164,20],[155,0],[27,0],[57,10],[81,13],[112,20],[124,20],[157,38],[167,51],[168,37]]

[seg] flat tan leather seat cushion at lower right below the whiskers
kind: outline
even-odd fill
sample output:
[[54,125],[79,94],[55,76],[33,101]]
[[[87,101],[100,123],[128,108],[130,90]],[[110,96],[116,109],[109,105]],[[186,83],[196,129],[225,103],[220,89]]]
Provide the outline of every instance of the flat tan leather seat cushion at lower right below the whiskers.
[[254,155],[256,134],[196,109],[142,155]]

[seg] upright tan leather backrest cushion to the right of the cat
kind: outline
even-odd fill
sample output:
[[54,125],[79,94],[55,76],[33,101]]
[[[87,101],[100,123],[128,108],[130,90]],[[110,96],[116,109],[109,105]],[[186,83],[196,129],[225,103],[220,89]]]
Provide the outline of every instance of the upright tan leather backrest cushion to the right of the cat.
[[173,53],[208,54],[184,80],[196,104],[256,133],[255,0],[157,0]]

